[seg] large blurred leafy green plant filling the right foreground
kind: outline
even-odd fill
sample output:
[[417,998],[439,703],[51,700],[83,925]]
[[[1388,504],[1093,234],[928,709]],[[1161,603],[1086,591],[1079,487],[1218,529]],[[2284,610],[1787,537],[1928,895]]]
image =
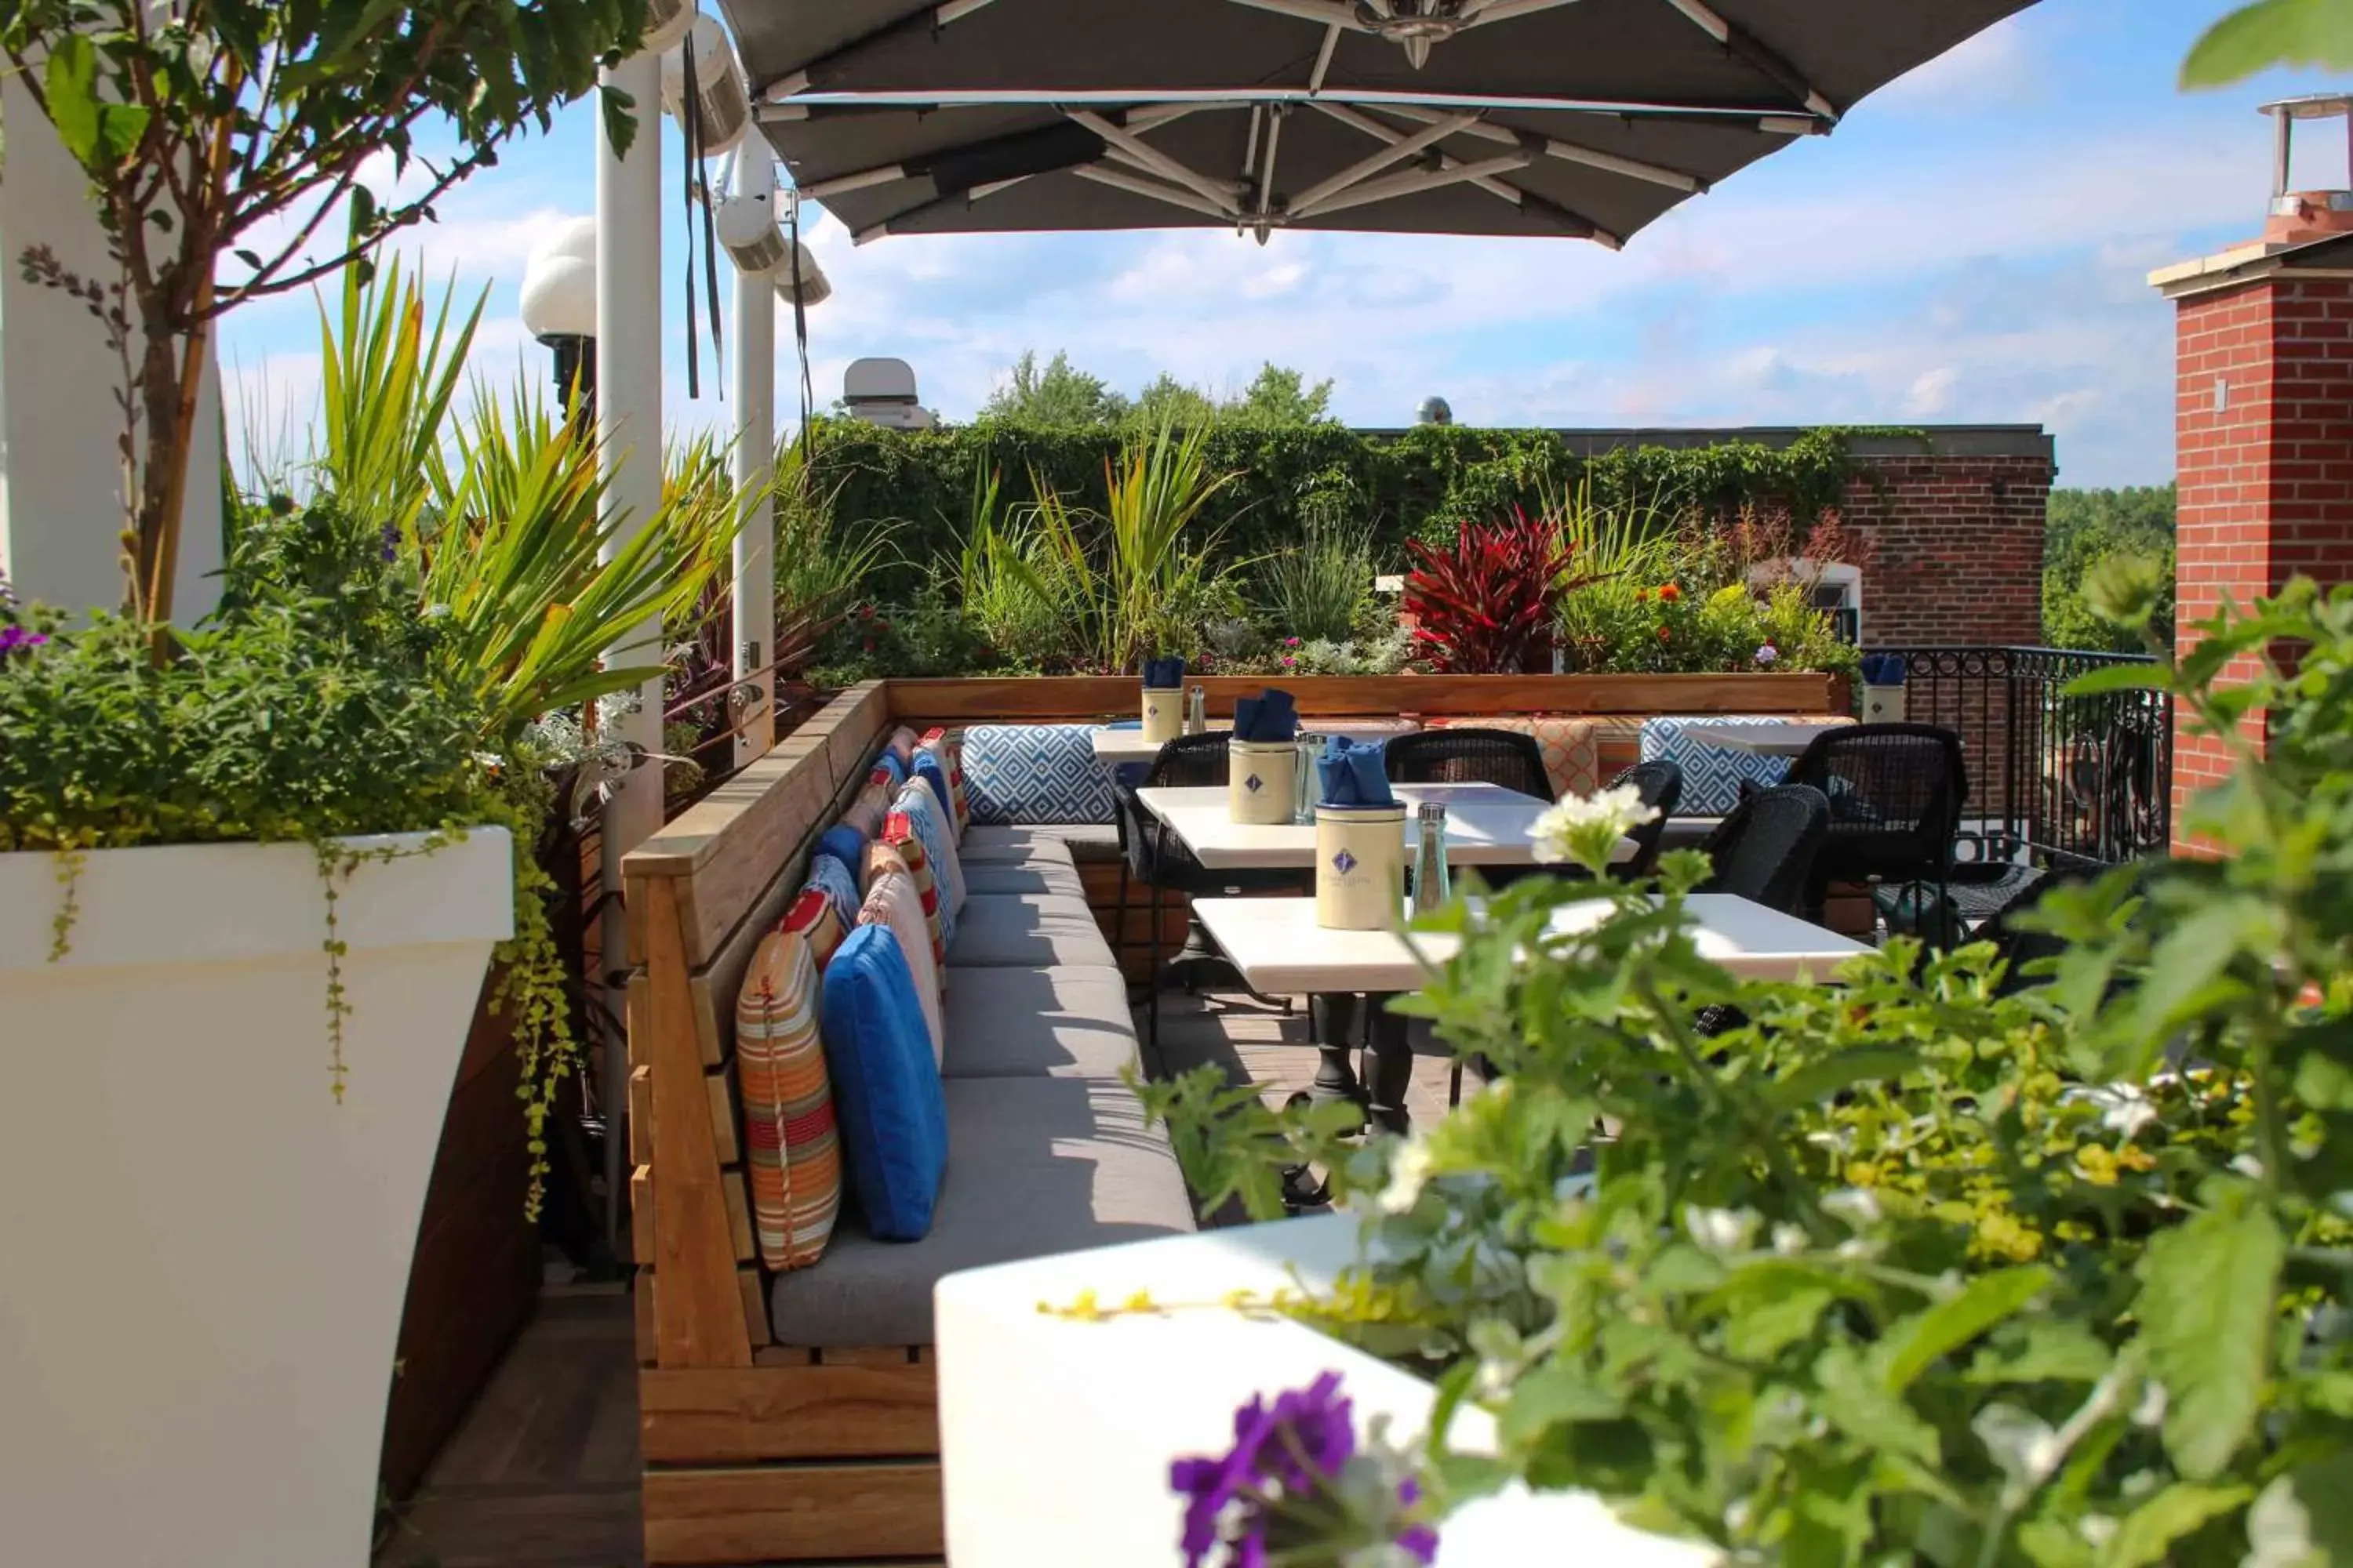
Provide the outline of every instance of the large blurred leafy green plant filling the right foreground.
[[[2160,588],[2092,597],[2146,625]],[[1332,1166],[1362,1260],[1287,1309],[1428,1373],[1433,1429],[1497,1413],[1442,1505],[1591,1488],[1729,1561],[2353,1556],[2353,588],[2198,635],[2075,691],[2165,686],[2233,752],[2184,818],[2221,853],[2057,886],[2026,976],[1897,938],[1737,980],[1675,853],[1435,922],[1461,950],[1398,1006],[1499,1079],[1412,1143],[1146,1091],[1261,1208],[1247,1166]],[[1562,853],[1600,872],[1621,804]]]

